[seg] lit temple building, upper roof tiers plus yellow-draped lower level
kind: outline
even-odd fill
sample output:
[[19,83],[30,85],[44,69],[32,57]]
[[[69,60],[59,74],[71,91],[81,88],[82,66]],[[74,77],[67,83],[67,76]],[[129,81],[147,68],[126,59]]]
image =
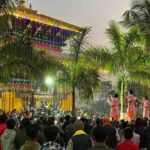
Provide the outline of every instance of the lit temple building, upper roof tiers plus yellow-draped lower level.
[[[37,10],[32,9],[31,4],[29,8],[25,7],[24,0],[20,0],[16,11],[10,14],[9,21],[11,21],[9,24],[12,26],[13,36],[20,36],[25,30],[29,31],[35,48],[48,50],[52,56],[60,60],[65,59],[62,51],[63,47],[67,45],[67,41],[83,31],[78,26],[38,14]],[[28,103],[33,90],[32,81],[26,81],[20,79],[20,77],[13,79],[11,85],[7,87],[0,85],[2,93],[0,108],[3,108],[5,111],[11,111],[14,108],[22,110],[23,106],[21,103],[23,100],[21,98]],[[23,95],[22,91],[26,92],[26,94]],[[35,98],[41,97],[41,95],[35,95]],[[49,97],[51,98],[51,96]],[[60,108],[71,110],[72,98],[70,95],[65,97],[66,99],[62,101]],[[48,99],[47,96],[46,99]]]

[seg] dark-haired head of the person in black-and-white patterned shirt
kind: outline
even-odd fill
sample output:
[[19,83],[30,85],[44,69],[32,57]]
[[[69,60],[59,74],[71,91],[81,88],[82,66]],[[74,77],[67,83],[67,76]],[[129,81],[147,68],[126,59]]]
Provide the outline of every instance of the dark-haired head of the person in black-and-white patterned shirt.
[[44,135],[47,141],[55,142],[58,138],[59,129],[55,125],[51,125],[44,129]]

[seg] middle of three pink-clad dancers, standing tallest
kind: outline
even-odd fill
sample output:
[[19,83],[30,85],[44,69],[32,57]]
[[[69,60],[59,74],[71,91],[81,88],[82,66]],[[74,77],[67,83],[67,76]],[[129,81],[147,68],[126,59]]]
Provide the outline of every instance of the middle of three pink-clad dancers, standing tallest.
[[126,96],[126,100],[128,103],[128,106],[127,106],[128,121],[132,121],[135,119],[135,116],[136,116],[136,110],[135,110],[135,105],[134,105],[135,97],[133,95],[133,90],[129,91],[128,96]]

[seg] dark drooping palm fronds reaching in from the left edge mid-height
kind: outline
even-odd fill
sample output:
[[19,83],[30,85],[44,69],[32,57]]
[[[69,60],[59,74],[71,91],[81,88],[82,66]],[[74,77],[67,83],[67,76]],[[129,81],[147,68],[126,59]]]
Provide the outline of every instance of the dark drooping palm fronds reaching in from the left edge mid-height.
[[61,62],[57,61],[48,51],[35,49],[32,40],[26,36],[8,41],[0,47],[0,78],[1,81],[9,81],[13,76],[29,75],[33,79],[41,79],[48,72],[61,68]]

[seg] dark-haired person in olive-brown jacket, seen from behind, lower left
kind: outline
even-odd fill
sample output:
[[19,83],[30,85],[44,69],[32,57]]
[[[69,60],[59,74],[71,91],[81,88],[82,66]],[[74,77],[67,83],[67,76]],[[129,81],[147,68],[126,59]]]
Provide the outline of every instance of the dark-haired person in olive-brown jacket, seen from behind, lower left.
[[40,144],[37,142],[39,136],[39,126],[31,124],[26,128],[26,134],[29,138],[19,150],[39,150]]

